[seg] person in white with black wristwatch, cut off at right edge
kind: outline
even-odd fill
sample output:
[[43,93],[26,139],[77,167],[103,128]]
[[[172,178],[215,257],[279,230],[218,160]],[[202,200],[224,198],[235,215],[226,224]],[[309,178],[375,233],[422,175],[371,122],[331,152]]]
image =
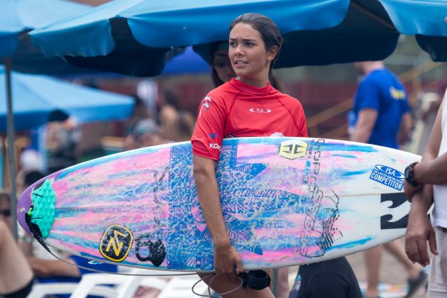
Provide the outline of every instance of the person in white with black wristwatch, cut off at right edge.
[[[444,99],[447,97],[444,95]],[[445,100],[444,100],[445,101]],[[447,104],[436,116],[421,162],[405,169],[404,192],[412,207],[409,212],[405,252],[413,262],[429,265],[429,298],[447,297]],[[431,222],[427,212],[434,209]]]

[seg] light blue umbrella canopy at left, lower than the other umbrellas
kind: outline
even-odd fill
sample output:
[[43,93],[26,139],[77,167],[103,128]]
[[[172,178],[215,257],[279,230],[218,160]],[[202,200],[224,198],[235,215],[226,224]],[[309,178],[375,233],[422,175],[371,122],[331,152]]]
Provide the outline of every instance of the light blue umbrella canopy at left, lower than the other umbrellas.
[[[0,81],[4,80],[0,67]],[[131,116],[133,99],[111,92],[82,87],[44,75],[11,73],[14,126],[29,130],[48,121],[54,111],[75,116],[81,123]],[[5,89],[0,85],[0,132],[6,131]]]

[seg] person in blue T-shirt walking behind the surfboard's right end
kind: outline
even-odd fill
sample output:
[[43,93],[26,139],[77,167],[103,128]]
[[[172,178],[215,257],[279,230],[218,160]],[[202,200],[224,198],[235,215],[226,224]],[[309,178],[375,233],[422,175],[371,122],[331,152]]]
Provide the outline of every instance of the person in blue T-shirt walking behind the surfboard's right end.
[[[348,115],[351,140],[399,149],[409,137],[412,126],[404,85],[385,68],[382,61],[357,62],[354,65],[364,77],[358,85],[353,110]],[[426,273],[407,258],[404,248],[397,241],[383,246],[407,270],[407,297],[411,297],[426,282]],[[368,288],[364,297],[378,296],[381,256],[381,246],[365,251]]]

